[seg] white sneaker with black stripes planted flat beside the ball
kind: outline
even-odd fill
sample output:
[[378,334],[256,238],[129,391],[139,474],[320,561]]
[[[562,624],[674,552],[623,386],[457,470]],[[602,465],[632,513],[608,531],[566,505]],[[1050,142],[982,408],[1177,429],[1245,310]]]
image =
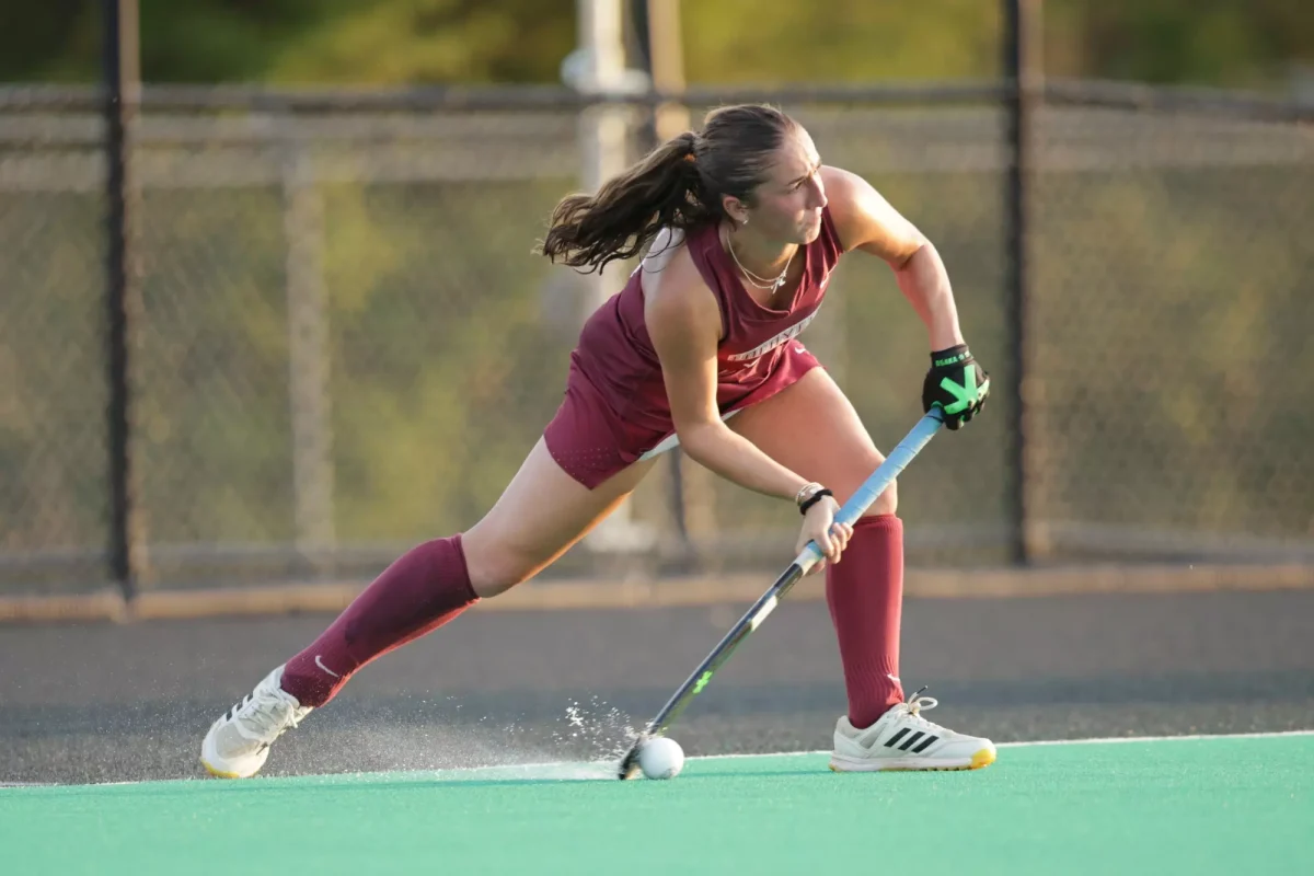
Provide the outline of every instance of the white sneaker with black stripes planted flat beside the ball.
[[921,712],[940,703],[918,693],[892,705],[865,730],[855,729],[848,714],[840,716],[830,768],[836,772],[980,770],[995,763],[995,743],[989,739],[954,733],[921,717]]

